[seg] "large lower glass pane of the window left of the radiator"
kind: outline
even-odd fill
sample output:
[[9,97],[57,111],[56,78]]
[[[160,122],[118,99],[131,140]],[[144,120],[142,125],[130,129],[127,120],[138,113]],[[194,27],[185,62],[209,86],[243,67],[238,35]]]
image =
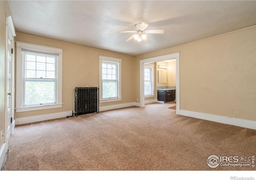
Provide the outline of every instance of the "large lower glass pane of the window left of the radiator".
[[55,82],[26,81],[25,104],[55,103]]

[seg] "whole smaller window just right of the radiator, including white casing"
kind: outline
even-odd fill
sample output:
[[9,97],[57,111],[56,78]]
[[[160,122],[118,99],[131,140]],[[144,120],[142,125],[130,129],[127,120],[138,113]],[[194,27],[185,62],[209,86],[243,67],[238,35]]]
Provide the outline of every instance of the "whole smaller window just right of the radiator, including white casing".
[[121,59],[100,56],[100,102],[120,100]]

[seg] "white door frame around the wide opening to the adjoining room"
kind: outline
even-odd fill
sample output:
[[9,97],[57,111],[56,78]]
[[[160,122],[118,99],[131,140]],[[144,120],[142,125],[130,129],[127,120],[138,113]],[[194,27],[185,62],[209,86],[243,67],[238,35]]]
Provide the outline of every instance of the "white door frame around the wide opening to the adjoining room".
[[176,59],[176,114],[180,114],[180,52],[140,60],[140,107],[145,107],[144,64]]

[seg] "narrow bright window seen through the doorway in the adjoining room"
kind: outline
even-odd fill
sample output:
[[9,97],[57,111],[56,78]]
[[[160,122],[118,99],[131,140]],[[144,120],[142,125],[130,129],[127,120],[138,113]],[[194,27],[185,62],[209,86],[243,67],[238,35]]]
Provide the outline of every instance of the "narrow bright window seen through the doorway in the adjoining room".
[[144,66],[144,96],[154,96],[154,65],[146,64]]

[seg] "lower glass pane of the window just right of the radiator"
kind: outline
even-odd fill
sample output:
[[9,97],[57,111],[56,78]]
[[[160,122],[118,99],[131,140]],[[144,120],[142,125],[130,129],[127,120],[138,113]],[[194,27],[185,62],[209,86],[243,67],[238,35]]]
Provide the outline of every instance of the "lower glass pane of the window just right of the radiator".
[[102,98],[117,98],[117,81],[102,82]]

